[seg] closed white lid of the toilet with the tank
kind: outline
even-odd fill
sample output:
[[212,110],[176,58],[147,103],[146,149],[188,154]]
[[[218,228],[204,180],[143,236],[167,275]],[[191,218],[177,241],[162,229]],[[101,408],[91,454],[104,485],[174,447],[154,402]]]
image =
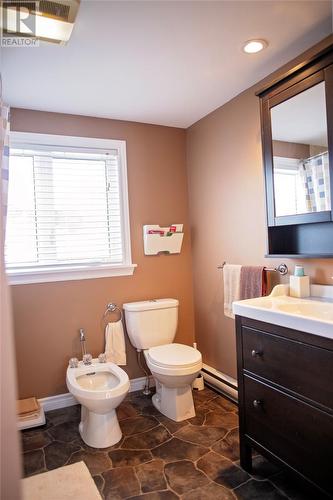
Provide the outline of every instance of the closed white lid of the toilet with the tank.
[[187,367],[201,362],[201,353],[184,344],[166,344],[151,347],[148,355],[159,366]]

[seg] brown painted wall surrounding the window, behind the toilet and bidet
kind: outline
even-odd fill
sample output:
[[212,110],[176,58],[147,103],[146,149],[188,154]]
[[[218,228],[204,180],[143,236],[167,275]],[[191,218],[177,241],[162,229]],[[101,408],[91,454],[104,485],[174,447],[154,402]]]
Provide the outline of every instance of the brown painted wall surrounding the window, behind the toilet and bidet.
[[[133,276],[12,286],[20,397],[66,392],[68,359],[80,354],[78,328],[93,355],[103,350],[100,318],[105,305],[175,297],[180,300],[176,340],[194,338],[185,131],[139,123],[11,110],[11,129],[73,136],[125,139]],[[143,224],[184,223],[180,255],[144,256]],[[127,343],[130,378],[143,376]]]

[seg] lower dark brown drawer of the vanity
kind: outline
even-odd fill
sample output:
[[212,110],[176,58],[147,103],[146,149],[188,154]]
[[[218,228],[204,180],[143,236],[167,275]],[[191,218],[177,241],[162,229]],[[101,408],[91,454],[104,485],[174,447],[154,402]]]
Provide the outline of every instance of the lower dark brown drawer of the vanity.
[[245,435],[333,494],[333,417],[244,376]]

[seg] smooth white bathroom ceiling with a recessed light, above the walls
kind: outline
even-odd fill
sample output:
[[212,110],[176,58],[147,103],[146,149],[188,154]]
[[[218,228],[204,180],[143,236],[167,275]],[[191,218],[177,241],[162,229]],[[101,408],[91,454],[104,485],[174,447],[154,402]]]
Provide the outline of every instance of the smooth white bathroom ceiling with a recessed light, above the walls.
[[[83,0],[67,46],[3,49],[11,106],[188,127],[331,33],[330,0]],[[269,47],[246,55],[250,38]]]

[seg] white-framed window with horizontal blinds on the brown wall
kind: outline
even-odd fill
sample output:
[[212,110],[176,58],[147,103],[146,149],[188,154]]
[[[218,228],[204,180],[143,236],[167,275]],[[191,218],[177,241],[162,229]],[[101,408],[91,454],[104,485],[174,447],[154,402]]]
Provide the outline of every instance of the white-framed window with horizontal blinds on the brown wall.
[[10,282],[132,274],[124,141],[12,134]]

